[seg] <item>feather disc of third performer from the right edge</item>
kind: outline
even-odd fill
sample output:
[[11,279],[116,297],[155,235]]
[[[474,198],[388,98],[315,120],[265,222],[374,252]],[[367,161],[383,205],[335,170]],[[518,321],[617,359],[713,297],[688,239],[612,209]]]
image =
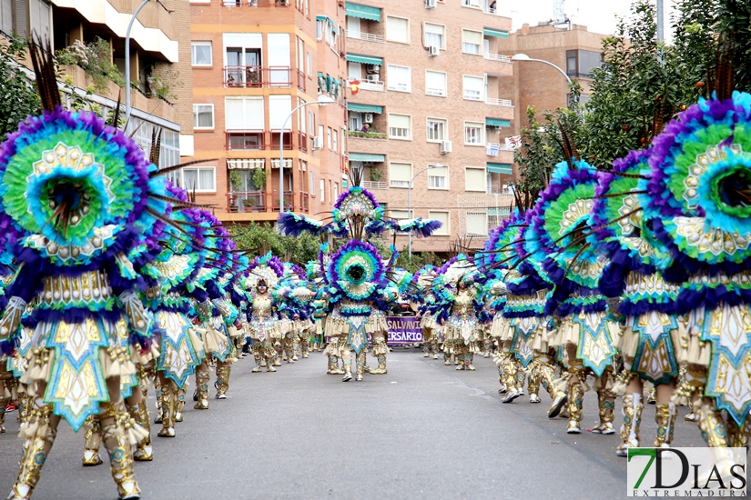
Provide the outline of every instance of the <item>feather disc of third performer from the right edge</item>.
[[603,273],[603,260],[585,240],[599,180],[584,161],[561,162],[529,214],[524,248],[543,262],[554,283],[567,278],[595,288]]

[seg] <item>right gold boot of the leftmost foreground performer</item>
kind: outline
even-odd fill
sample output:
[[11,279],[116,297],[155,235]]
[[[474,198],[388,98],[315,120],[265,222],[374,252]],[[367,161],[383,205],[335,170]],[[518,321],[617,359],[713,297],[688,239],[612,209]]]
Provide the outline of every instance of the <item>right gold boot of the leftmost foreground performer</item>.
[[[133,475],[133,451],[128,443],[124,421],[127,412],[122,401],[100,403],[99,414],[102,425],[102,439],[109,453],[109,470],[117,485],[120,500],[135,500],[141,497],[136,478]],[[165,420],[167,415],[165,415]]]

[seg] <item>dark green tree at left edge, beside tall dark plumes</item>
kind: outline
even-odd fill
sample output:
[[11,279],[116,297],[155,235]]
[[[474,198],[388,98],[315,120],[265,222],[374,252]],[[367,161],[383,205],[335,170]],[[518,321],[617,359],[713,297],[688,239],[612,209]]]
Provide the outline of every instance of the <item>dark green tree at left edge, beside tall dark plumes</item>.
[[13,37],[0,44],[0,134],[18,128],[28,115],[41,113],[36,85],[19,69],[26,57],[26,42]]

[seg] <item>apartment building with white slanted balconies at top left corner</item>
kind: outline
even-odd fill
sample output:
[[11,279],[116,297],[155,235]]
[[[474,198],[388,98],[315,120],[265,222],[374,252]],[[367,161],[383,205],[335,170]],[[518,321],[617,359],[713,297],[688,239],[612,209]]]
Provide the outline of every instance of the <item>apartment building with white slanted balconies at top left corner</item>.
[[[101,38],[109,44],[109,62],[117,65],[124,76],[127,25],[139,4],[140,0],[112,3],[107,0],[0,0],[0,31],[5,36],[36,34],[43,40],[50,40],[55,51],[76,42],[91,44]],[[190,38],[186,31],[179,29],[188,22],[188,5],[179,0],[165,0],[163,5],[156,2],[146,5],[132,30],[133,111],[129,130],[145,150],[151,145],[151,132],[157,127],[163,131],[162,165],[177,164],[181,145],[192,141]],[[25,64],[30,66],[28,60]],[[118,97],[124,95],[124,89],[114,81],[107,81],[104,87],[86,94],[84,89],[91,88],[92,78],[79,65],[61,66],[60,73],[66,81],[72,82],[63,87],[68,100],[77,93],[86,95],[86,100],[100,109],[114,109]],[[167,80],[167,74],[175,75],[179,81],[174,82],[168,98],[163,98],[153,92],[149,82],[160,75]]]

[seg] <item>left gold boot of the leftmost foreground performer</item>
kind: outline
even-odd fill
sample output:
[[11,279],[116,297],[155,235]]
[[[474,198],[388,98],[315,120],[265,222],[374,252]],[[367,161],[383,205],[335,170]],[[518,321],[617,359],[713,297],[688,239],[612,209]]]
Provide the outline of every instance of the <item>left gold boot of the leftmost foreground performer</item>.
[[41,398],[34,402],[35,408],[29,411],[28,422],[21,429],[24,455],[8,500],[27,500],[31,497],[42,473],[42,465],[45,465],[46,457],[55,443],[56,425],[50,425],[52,405],[40,404]]

